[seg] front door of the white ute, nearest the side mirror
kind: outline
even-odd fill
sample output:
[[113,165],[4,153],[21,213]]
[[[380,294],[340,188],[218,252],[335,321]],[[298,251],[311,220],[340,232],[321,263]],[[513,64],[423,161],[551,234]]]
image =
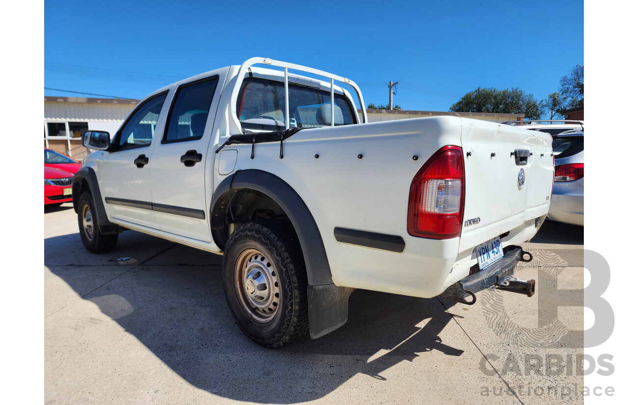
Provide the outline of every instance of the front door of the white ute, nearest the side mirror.
[[151,210],[151,152],[163,133],[162,114],[168,92],[144,100],[127,117],[111,151],[97,163],[100,193],[111,219],[154,229],[159,224]]

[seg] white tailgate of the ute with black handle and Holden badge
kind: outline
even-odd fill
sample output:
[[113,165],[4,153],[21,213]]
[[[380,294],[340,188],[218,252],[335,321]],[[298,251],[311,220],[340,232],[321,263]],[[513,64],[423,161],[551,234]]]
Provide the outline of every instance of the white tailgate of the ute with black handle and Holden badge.
[[[465,208],[458,251],[475,247],[548,212],[554,180],[551,136],[465,119],[461,141]],[[517,149],[531,153],[526,163],[517,165],[516,156],[512,156]]]

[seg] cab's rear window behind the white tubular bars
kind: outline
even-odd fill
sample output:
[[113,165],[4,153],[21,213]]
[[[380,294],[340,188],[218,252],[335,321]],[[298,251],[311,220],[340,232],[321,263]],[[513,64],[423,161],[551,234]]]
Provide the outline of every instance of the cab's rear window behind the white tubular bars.
[[[243,129],[279,131],[285,127],[284,84],[249,77],[242,82],[237,100],[237,116]],[[288,84],[290,127],[331,126],[331,97],[327,90]],[[343,94],[333,95],[334,126],[355,124],[351,104]]]

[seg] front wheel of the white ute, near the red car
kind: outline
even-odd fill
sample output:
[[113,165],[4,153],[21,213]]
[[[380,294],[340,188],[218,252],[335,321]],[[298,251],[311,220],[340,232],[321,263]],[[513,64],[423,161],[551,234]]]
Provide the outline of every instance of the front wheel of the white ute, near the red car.
[[116,247],[117,234],[100,233],[94,200],[89,193],[78,198],[78,231],[85,249],[92,253],[105,253]]

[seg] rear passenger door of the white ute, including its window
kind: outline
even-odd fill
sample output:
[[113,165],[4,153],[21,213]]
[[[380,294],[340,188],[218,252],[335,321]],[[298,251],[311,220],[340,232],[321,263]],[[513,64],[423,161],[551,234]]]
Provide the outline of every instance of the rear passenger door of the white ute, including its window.
[[215,153],[208,148],[227,72],[216,70],[179,85],[151,156],[153,212],[160,230],[203,242],[211,241],[207,181],[214,177]]

